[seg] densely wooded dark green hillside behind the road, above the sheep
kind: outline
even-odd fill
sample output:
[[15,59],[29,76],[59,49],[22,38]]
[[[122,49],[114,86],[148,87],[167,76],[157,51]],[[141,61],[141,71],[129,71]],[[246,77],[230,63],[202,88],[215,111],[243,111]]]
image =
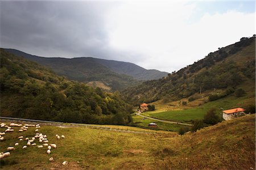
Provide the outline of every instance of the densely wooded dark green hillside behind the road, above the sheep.
[[122,97],[57,76],[1,49],[1,116],[89,124],[132,122]]

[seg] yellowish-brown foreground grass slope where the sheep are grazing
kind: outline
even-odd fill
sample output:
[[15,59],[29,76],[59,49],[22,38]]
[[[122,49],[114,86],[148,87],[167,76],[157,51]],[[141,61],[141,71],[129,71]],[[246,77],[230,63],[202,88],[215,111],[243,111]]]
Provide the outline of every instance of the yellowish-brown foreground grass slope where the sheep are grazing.
[[[0,128],[4,131],[6,128]],[[1,151],[32,137],[35,128],[5,135]],[[42,126],[56,149],[22,146],[1,160],[1,169],[249,169],[255,168],[255,114],[178,136],[176,133],[137,134],[89,128]],[[55,134],[65,135],[56,139]],[[38,142],[36,142],[38,143]],[[38,143],[39,145],[39,143]],[[53,157],[53,162],[48,159]],[[67,160],[68,165],[61,165]]]

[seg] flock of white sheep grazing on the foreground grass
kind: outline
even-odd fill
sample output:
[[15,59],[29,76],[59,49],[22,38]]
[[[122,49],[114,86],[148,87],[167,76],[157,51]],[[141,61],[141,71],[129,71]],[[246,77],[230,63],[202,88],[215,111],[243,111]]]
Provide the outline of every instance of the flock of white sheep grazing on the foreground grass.
[[[14,123],[11,123],[9,126],[6,125],[5,123],[1,123],[0,124],[0,128],[6,128],[6,130],[4,132],[0,132],[0,141],[3,141],[5,140],[5,137],[3,137],[4,135],[6,135],[7,133],[10,133],[12,131],[14,131],[14,129],[12,129],[11,127],[12,126],[16,126],[16,127],[20,127],[19,129],[19,132],[22,133],[23,131],[27,131],[28,127],[35,127],[35,136],[34,137],[31,137],[31,138],[28,138],[28,137],[23,137],[22,135],[18,137],[18,140],[19,141],[27,141],[27,145],[24,145],[22,148],[23,149],[26,149],[27,147],[31,147],[31,146],[37,146],[38,148],[43,148],[44,146],[47,147],[47,151],[46,153],[47,154],[51,154],[51,149],[52,148],[56,148],[57,145],[54,144],[54,143],[51,143],[51,144],[48,144],[48,139],[47,139],[47,135],[46,134],[42,134],[42,133],[39,133],[39,129],[41,128],[41,126],[39,124],[37,125],[31,125],[31,124],[14,124]],[[59,135],[56,134],[56,138],[57,139],[60,139],[60,138],[65,138],[64,135],[61,135],[61,137]],[[38,142],[40,143],[40,145],[37,145],[35,142],[38,140]],[[19,142],[16,142],[14,144],[14,146],[18,146],[19,145]],[[7,152],[3,153],[1,152],[0,153],[0,159],[4,159],[4,158],[7,158],[11,155],[10,151],[13,151],[15,150],[15,147],[14,146],[9,146],[7,147]],[[49,161],[52,161],[53,158],[49,158]],[[68,162],[67,161],[64,161],[62,163],[63,165],[67,165]]]

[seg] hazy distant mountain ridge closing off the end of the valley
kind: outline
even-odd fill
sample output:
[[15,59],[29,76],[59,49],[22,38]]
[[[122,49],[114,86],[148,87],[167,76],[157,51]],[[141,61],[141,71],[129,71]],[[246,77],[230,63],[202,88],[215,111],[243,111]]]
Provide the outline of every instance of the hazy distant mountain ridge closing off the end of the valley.
[[52,58],[32,56],[15,49],[5,49],[7,52],[22,56],[47,66],[59,75],[80,82],[102,82],[112,90],[122,90],[138,84],[141,80],[159,79],[168,73],[158,70],[146,70],[129,62],[113,61],[92,57]]

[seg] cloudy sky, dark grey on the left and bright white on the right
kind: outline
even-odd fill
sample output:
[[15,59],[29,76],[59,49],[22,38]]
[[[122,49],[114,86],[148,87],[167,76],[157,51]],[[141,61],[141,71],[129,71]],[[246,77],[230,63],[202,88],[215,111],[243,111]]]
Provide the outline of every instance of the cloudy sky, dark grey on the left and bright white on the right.
[[171,73],[255,33],[254,1],[0,1],[0,46]]

